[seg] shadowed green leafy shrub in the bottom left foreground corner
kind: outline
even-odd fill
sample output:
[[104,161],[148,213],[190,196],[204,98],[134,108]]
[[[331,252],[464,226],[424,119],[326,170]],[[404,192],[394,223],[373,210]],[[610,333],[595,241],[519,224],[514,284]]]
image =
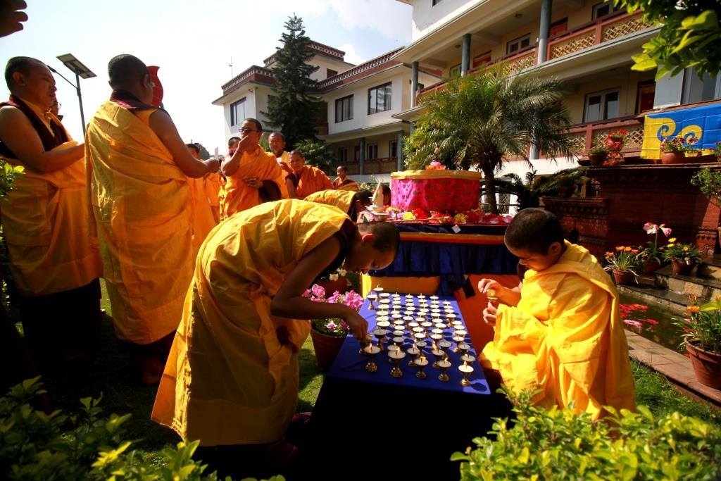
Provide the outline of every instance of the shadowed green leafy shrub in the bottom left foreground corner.
[[[0,398],[0,479],[23,481],[216,481],[192,459],[198,441],[164,449],[163,462],[143,462],[123,439],[131,415],[102,417],[100,399],[80,400],[81,410],[46,414],[31,402],[45,391],[40,378],[27,379]],[[226,481],[230,478],[226,478]],[[271,481],[282,481],[273,477]]]

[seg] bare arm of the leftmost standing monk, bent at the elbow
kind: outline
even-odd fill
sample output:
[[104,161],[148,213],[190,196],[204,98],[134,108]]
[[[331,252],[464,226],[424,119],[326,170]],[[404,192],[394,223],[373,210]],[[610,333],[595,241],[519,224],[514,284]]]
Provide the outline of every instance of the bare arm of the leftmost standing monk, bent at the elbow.
[[0,108],[0,139],[17,155],[23,167],[40,174],[65,169],[83,159],[82,144],[46,152],[27,115],[15,107]]

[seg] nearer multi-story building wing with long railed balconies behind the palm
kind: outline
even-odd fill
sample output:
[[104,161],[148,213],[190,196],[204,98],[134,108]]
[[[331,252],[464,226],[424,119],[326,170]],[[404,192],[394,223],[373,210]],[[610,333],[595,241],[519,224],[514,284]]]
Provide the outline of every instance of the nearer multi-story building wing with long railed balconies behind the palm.
[[[397,0],[412,5],[412,43],[394,60],[412,66],[410,108],[394,118],[413,122],[423,94],[444,82],[420,86],[416,72],[440,69],[444,78],[474,74],[504,62],[508,74],[528,72],[565,80],[565,105],[574,123],[569,135],[588,153],[610,131],[629,131],[627,157],[638,156],[642,112],[721,97],[721,75],[699,78],[693,69],[655,81],[655,71],[632,71],[631,56],[660,27],[640,12],[628,14],[598,0]],[[531,151],[540,174],[572,167],[576,159],[550,162]],[[525,161],[507,162],[504,172],[523,175]]]

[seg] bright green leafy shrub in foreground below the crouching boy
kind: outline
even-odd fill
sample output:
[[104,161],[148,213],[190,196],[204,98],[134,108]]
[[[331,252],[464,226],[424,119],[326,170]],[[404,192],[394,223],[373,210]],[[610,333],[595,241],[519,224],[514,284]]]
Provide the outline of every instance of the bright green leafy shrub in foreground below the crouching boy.
[[497,419],[476,449],[455,453],[461,480],[715,480],[721,430],[674,412],[655,418],[644,406],[606,422],[570,409],[531,405],[532,394],[506,392],[517,418]]

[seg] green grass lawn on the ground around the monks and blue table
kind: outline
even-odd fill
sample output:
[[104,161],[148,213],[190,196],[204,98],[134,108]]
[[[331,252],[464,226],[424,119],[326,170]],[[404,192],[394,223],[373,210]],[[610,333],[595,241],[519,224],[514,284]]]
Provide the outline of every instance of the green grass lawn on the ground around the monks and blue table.
[[[105,289],[102,306],[110,312]],[[323,375],[315,363],[310,338],[306,340],[299,359],[301,391],[298,410],[306,411],[314,406],[323,382]],[[127,438],[138,440],[133,444],[138,454],[151,461],[159,460],[159,450],[177,443],[179,439],[167,428],[151,422],[150,412],[156,388],[142,387],[131,381],[125,370],[127,363],[128,353],[115,339],[110,317],[106,317],[97,354],[76,369],[63,369],[55,376],[46,377],[44,381],[48,396],[53,407],[75,412],[81,397],[102,395],[101,406],[107,415],[111,412],[133,414],[126,424]],[[671,389],[663,376],[635,362],[633,374],[639,404],[647,405],[655,414],[663,415],[678,410],[684,415],[693,415],[721,427],[720,412],[691,401],[676,389]]]

